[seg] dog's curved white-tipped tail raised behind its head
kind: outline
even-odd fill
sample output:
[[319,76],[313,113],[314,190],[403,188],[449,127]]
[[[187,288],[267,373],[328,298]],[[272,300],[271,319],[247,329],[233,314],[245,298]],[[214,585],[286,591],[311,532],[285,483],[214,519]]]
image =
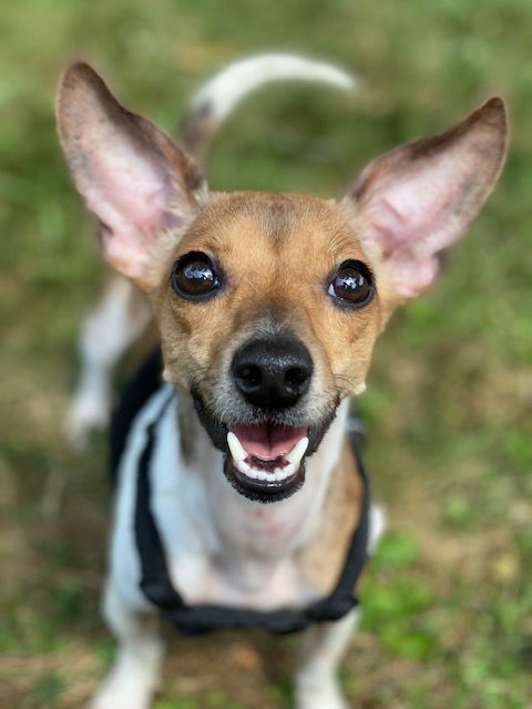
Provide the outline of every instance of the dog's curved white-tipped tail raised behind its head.
[[283,80],[355,88],[354,78],[332,64],[297,54],[248,56],[223,69],[193,96],[180,131],[181,145],[203,163],[211,141],[241,99],[264,84]]

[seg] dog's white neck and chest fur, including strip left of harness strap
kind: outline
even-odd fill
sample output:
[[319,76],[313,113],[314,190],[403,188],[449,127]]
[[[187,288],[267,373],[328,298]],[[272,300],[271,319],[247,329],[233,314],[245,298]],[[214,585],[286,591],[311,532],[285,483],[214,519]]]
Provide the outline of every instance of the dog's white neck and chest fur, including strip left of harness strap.
[[[134,427],[121,473],[116,546],[124,538],[131,548],[135,461],[142,458],[146,431],[167,393],[156,394]],[[318,594],[304,573],[301,551],[309,537],[319,534],[329,469],[335,464],[324,460],[327,446],[309,460],[307,481],[296,495],[275,505],[249,502],[227,483],[223,456],[200,427],[193,459],[183,455],[177,405],[174,400],[157,422],[150,462],[151,508],[175,588],[188,604],[263,610],[301,606],[315,598]],[[342,421],[339,424],[341,431]],[[338,438],[336,428],[328,435]],[[337,455],[339,445],[334,443]]]

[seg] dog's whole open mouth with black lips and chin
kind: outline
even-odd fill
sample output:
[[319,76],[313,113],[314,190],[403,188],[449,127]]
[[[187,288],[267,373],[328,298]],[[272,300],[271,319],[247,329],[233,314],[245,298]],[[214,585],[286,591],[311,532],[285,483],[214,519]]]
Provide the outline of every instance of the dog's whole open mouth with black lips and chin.
[[223,423],[193,392],[200,421],[211,441],[224,453],[224,474],[248,500],[272,503],[286,500],[305,482],[306,459],[319,446],[336,415],[334,405],[318,423],[293,425],[278,418]]

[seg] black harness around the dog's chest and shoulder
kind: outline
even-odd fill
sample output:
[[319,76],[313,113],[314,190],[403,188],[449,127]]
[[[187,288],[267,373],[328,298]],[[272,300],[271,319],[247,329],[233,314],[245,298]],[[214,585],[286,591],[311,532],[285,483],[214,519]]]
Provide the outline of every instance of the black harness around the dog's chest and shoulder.
[[[161,356],[155,353],[141,369],[124,393],[111,429],[113,480],[127,439],[127,432],[139,413],[161,384]],[[262,612],[232,606],[207,604],[187,605],[172,585],[161,536],[151,511],[151,460],[158,434],[158,425],[173,392],[147,427],[146,442],[139,458],[134,516],[135,543],[141,563],[140,586],[164,618],[188,635],[229,628],[258,627],[272,633],[295,633],[311,623],[338,620],[358,605],[355,587],[368,557],[369,485],[360,456],[359,443],[352,438],[358,474],[362,482],[360,518],[352,533],[344,569],[335,588],[324,598],[304,608],[283,607]]]

